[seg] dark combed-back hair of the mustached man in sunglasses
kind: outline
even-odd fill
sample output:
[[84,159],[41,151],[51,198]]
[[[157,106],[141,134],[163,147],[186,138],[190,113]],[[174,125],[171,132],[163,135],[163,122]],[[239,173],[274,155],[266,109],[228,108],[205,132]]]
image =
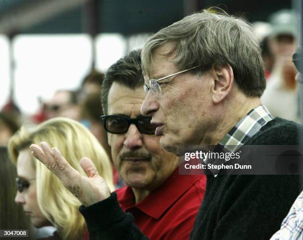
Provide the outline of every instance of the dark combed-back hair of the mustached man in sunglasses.
[[114,82],[131,89],[144,85],[140,55],[141,49],[131,51],[108,68],[103,81],[101,97],[104,114],[108,113],[108,92]]

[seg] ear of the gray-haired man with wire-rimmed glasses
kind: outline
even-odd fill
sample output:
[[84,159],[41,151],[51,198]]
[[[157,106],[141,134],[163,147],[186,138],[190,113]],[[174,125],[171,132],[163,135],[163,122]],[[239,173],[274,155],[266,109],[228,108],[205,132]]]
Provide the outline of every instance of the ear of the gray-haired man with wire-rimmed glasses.
[[221,102],[231,92],[234,84],[234,72],[232,67],[227,64],[226,66],[213,66],[214,84],[212,89],[212,100],[214,103]]

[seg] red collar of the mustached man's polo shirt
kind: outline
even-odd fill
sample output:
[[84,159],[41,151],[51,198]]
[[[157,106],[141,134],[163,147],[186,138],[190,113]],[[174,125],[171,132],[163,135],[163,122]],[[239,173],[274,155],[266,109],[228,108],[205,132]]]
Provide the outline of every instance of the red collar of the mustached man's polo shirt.
[[119,202],[125,211],[137,208],[152,218],[158,219],[199,179],[201,179],[201,175],[179,175],[177,168],[159,188],[152,191],[139,203],[134,204],[135,197],[130,187],[126,188]]

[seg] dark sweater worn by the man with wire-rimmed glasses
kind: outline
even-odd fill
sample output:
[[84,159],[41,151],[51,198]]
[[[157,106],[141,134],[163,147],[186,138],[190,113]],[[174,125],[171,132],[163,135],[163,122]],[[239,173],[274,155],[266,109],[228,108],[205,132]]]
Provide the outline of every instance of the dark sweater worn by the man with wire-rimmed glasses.
[[[299,125],[275,118],[246,144],[299,144]],[[279,230],[299,192],[296,175],[208,175],[191,240],[268,240]],[[89,207],[81,206],[80,212],[91,240],[147,239],[133,216],[122,211],[115,193]]]

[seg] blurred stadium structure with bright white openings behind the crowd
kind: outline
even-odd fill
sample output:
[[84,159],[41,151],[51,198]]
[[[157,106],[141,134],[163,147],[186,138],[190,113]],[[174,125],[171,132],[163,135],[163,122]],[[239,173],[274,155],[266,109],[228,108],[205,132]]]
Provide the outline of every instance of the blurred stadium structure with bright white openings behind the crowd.
[[250,22],[267,21],[292,0],[0,0],[0,108],[39,111],[58,90],[75,90],[141,48],[151,33],[194,11],[218,6]]

